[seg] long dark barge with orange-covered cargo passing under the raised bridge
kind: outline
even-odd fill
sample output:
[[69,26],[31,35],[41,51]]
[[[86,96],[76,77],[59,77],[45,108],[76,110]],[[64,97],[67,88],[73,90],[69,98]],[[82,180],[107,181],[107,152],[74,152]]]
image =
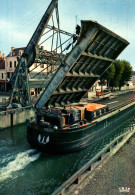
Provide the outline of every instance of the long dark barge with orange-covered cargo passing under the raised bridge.
[[76,152],[111,133],[135,112],[135,102],[114,111],[109,111],[105,105],[96,104],[95,107],[99,109],[90,111],[90,104],[87,104],[40,110],[27,125],[29,144],[49,153]]

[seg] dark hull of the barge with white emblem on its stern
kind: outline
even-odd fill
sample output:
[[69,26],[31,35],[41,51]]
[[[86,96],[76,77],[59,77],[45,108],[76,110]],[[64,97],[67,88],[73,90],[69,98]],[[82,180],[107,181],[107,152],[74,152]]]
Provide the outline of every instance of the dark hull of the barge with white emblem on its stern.
[[[28,126],[27,139],[33,148],[48,153],[76,152],[92,145],[120,127],[122,123],[134,115],[134,111],[135,105],[132,103],[121,110],[102,116],[87,126],[76,129],[45,132],[42,128],[36,131]],[[39,141],[39,137],[41,141]],[[46,142],[46,139],[48,139],[48,142]]]

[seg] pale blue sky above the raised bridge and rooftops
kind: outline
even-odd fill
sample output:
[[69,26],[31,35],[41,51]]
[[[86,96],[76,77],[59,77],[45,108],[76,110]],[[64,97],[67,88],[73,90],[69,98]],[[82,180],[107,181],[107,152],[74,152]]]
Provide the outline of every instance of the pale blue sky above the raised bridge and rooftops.
[[[51,0],[0,0],[0,51],[25,47]],[[81,20],[94,20],[130,45],[119,59],[135,70],[135,0],[58,0],[60,28],[74,33]]]

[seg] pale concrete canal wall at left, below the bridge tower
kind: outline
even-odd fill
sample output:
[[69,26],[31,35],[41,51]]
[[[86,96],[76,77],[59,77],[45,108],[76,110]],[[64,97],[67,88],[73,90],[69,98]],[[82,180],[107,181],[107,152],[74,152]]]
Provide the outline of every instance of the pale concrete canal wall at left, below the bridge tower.
[[33,107],[22,107],[0,112],[0,129],[25,123],[26,119],[35,115]]

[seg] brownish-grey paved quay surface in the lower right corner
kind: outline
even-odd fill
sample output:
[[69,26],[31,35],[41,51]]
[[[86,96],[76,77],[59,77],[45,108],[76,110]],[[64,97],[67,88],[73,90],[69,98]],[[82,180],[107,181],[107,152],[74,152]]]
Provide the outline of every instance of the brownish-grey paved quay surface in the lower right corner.
[[100,166],[91,179],[86,179],[74,194],[135,195],[135,137]]

